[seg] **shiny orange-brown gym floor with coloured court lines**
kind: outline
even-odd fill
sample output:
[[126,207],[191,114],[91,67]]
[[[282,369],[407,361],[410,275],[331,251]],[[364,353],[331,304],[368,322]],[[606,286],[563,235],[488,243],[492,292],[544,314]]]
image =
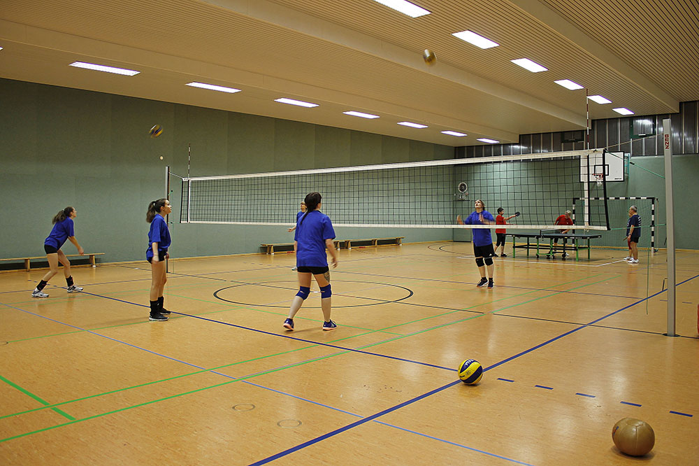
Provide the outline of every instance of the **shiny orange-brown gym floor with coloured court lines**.
[[293,254],[171,260],[164,323],[145,261],[75,267],[85,291],[59,274],[47,299],[45,271],[3,272],[0,463],[626,465],[632,417],[645,461],[696,464],[699,251],[677,252],[679,337],[665,251],[625,255],[498,257],[487,289],[470,243],[342,250],[332,332],[317,285],[282,328]]

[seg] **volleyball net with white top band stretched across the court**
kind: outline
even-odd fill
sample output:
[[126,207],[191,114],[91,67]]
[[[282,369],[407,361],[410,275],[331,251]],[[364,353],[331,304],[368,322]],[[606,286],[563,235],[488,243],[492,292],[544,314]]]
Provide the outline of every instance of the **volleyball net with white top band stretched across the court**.
[[[576,228],[607,230],[605,150],[375,164],[182,178],[181,223],[294,225],[309,192],[336,227],[479,228],[457,225],[482,199],[508,229],[545,230],[571,209]],[[600,167],[602,167],[600,169]]]

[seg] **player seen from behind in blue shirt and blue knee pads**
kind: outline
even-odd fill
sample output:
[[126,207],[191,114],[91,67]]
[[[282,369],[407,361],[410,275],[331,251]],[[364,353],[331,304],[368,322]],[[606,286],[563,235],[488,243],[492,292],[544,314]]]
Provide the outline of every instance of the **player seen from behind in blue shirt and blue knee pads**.
[[333,268],[338,267],[338,253],[333,239],[335,230],[330,218],[320,211],[322,196],[319,192],[310,192],[305,197],[307,211],[296,222],[294,243],[296,246],[296,268],[298,271],[298,293],[291,301],[289,318],[284,320],[284,328],[294,330],[294,316],[301,309],[303,300],[310,293],[310,278],[320,287],[320,306],[323,309],[323,330],[334,330],[338,327],[330,318],[331,296],[330,268],[326,248],[333,256]]

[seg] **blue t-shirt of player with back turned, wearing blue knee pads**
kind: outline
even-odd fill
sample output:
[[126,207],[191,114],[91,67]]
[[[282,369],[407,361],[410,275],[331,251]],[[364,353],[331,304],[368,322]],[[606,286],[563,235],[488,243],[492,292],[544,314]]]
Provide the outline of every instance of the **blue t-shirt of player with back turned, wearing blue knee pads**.
[[326,239],[335,239],[333,223],[328,216],[321,211],[310,211],[305,218],[298,216],[294,230],[294,241],[298,242],[296,267],[328,267]]

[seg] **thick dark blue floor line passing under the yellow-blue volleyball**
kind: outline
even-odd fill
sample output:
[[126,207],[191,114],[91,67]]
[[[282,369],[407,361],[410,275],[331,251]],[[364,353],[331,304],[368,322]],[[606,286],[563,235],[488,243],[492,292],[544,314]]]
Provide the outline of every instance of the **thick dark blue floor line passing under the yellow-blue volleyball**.
[[[680,282],[680,283],[677,283],[677,285],[682,285],[682,284],[684,284],[684,283],[686,283],[686,282],[688,282],[688,281],[691,281],[691,280],[693,280],[694,278],[697,278],[697,277],[699,277],[699,275],[695,275],[695,276],[693,276],[693,277],[691,277],[691,278],[687,278],[685,281],[682,281],[682,282]],[[676,286],[677,286],[677,285],[676,285]],[[657,296],[657,295],[660,295],[661,293],[663,293],[663,292],[665,292],[665,291],[666,291],[666,290],[661,290],[661,291],[657,292],[657,293],[654,294],[654,295],[651,295],[651,296],[649,296],[649,297],[645,297],[645,298],[643,298],[643,299],[640,299],[640,301],[638,301],[638,302],[635,302],[635,303],[633,303],[633,304],[629,304],[628,306],[625,306],[625,307],[623,307],[623,308],[621,308],[621,309],[619,309],[619,310],[617,310],[617,311],[614,311],[614,312],[612,312],[612,313],[609,313],[609,314],[607,314],[606,316],[603,316],[603,317],[600,317],[600,318],[598,318],[598,319],[596,319],[596,320],[593,320],[593,321],[592,321],[591,323],[589,323],[589,324],[581,325],[580,327],[577,327],[577,328],[575,328],[575,329],[573,329],[573,330],[570,330],[569,332],[565,332],[565,333],[559,335],[558,337],[554,337],[554,338],[552,338],[552,339],[549,339],[549,340],[545,341],[545,342],[542,343],[542,344],[538,344],[538,345],[536,345],[536,346],[533,346],[532,348],[529,348],[528,350],[521,351],[520,353],[517,353],[516,355],[512,355],[512,356],[510,356],[510,358],[501,360],[500,362],[496,362],[495,364],[493,364],[493,365],[491,365],[491,366],[489,366],[489,367],[483,369],[483,372],[487,372],[487,371],[489,371],[490,369],[494,369],[494,368],[496,368],[496,367],[498,367],[498,366],[500,366],[500,365],[505,364],[505,362],[510,362],[511,360],[514,360],[515,358],[519,358],[519,357],[522,356],[522,355],[525,355],[525,354],[527,354],[527,353],[531,353],[531,351],[534,351],[534,350],[536,350],[536,349],[538,349],[538,348],[541,348],[542,346],[545,346],[545,345],[547,345],[547,344],[549,344],[549,343],[552,343],[552,342],[554,342],[554,341],[556,341],[556,340],[559,340],[559,339],[561,339],[561,338],[563,338],[563,337],[566,337],[566,336],[568,336],[568,335],[570,335],[570,334],[572,334],[572,333],[574,333],[574,332],[577,332],[577,331],[579,331],[579,330],[582,330],[582,329],[584,329],[585,327],[587,327],[587,326],[590,325],[590,324],[597,323],[597,322],[599,322],[600,320],[603,320],[603,319],[605,319],[605,318],[607,318],[607,317],[614,316],[614,314],[617,314],[617,313],[619,313],[619,312],[621,312],[621,311],[624,311],[624,310],[626,310],[626,309],[628,309],[628,308],[630,308],[630,307],[632,307],[632,306],[635,306],[636,304],[640,304],[640,303],[642,303],[642,302],[644,302],[644,301],[647,301],[648,299],[651,299],[651,297],[655,297],[655,296]],[[324,439],[328,439],[329,437],[333,437],[333,436],[338,435],[338,434],[340,434],[340,433],[342,433],[342,432],[345,432],[345,430],[354,428],[354,427],[356,427],[357,425],[361,425],[361,424],[366,423],[366,422],[368,422],[368,421],[373,421],[373,419],[378,418],[378,417],[380,417],[380,416],[383,416],[384,414],[388,414],[388,413],[390,413],[391,411],[395,411],[396,409],[400,409],[400,408],[402,408],[402,407],[405,407],[405,406],[407,406],[408,404],[412,404],[412,403],[414,403],[414,402],[417,402],[417,401],[419,401],[419,400],[422,400],[422,399],[425,398],[425,397],[431,396],[431,395],[433,395],[433,394],[435,394],[435,393],[439,393],[439,392],[442,391],[442,390],[446,390],[447,388],[450,388],[450,387],[452,387],[452,386],[454,386],[454,385],[457,385],[459,382],[460,382],[460,381],[454,381],[454,382],[452,382],[452,383],[447,383],[447,385],[445,385],[445,386],[441,386],[440,388],[435,388],[434,390],[431,390],[430,392],[425,393],[424,395],[420,395],[419,397],[415,397],[415,398],[413,398],[412,400],[408,400],[407,402],[403,402],[403,403],[401,403],[401,404],[397,404],[396,406],[394,406],[394,407],[392,407],[392,408],[385,409],[384,411],[380,411],[379,413],[373,414],[372,416],[369,416],[368,418],[364,418],[364,419],[362,419],[361,421],[356,421],[356,422],[354,422],[354,423],[352,423],[352,424],[345,425],[345,427],[343,427],[343,428],[339,428],[339,429],[333,430],[333,431],[331,431],[331,432],[328,432],[327,434],[324,434],[324,435],[321,435],[321,436],[319,436],[319,437],[316,437],[315,439],[310,439],[310,440],[308,440],[307,442],[303,442],[302,444],[298,444],[298,445],[296,445],[296,446],[294,446],[294,447],[291,447],[290,449],[287,449],[287,450],[284,450],[284,451],[280,451],[280,453],[277,453],[277,454],[275,454],[275,455],[273,455],[273,456],[268,456],[267,458],[264,458],[263,460],[259,460],[259,461],[257,461],[256,463],[251,463],[250,466],[264,465],[264,464],[266,464],[266,463],[269,463],[270,461],[277,460],[278,458],[282,458],[283,456],[287,456],[289,453],[294,453],[294,451],[298,451],[298,450],[300,450],[300,449],[303,449],[303,448],[305,448],[306,446],[310,446],[310,445],[315,444],[315,443],[317,443],[317,442],[320,442],[320,441],[322,441],[322,440],[324,440]]]

